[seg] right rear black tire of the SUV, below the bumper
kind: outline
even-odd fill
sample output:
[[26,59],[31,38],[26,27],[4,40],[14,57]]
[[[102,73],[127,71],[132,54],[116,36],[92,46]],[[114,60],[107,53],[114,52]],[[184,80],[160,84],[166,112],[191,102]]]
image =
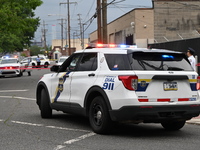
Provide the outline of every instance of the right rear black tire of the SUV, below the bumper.
[[184,121],[169,121],[169,122],[162,122],[161,125],[166,129],[166,130],[179,130],[185,125],[185,120]]

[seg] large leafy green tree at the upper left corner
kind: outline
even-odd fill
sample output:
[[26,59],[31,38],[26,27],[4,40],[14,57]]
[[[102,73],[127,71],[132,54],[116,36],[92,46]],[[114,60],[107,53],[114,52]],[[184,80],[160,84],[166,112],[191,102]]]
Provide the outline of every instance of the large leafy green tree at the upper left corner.
[[1,0],[0,52],[22,51],[30,46],[40,21],[33,11],[41,4],[41,0]]

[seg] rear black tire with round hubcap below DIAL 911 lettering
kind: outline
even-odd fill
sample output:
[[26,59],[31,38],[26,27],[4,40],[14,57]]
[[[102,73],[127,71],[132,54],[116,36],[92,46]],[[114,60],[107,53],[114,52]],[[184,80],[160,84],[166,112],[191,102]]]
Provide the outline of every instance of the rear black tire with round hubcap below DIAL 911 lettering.
[[112,121],[106,103],[101,96],[95,97],[90,104],[89,121],[95,133],[107,134],[110,132]]

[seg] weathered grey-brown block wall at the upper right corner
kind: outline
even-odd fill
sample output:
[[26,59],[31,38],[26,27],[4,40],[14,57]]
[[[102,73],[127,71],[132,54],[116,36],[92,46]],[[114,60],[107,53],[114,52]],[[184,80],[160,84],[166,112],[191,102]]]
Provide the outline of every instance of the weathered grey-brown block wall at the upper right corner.
[[153,0],[155,42],[200,37],[200,0]]

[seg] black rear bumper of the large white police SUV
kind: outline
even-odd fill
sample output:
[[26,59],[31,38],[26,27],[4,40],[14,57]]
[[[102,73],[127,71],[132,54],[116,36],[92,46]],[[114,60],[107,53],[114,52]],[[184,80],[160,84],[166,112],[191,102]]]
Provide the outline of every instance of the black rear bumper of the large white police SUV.
[[168,120],[190,120],[200,114],[200,104],[176,106],[125,106],[110,110],[113,121],[160,123]]

